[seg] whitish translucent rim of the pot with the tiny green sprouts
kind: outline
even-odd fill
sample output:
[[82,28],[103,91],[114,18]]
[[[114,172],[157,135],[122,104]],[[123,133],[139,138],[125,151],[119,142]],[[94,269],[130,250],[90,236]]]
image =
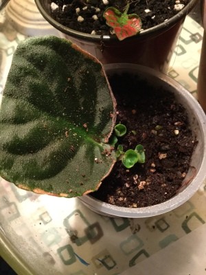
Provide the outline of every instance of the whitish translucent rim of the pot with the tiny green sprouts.
[[99,214],[103,214],[109,217],[128,217],[128,218],[141,218],[141,217],[152,217],[158,214],[163,214],[165,212],[169,212],[178,206],[181,206],[188,199],[194,195],[196,190],[200,188],[203,182],[206,183],[206,174],[204,173],[204,169],[206,166],[206,115],[203,111],[201,105],[198,101],[187,91],[180,83],[176,82],[170,76],[167,76],[161,72],[155,71],[155,69],[151,69],[149,67],[145,67],[142,65],[135,65],[129,63],[113,63],[104,65],[106,72],[109,73],[110,70],[118,70],[122,69],[135,69],[136,72],[141,72],[142,74],[146,74],[149,76],[155,76],[155,78],[159,78],[161,81],[167,83],[170,87],[173,87],[177,94],[180,94],[182,98],[187,99],[187,105],[195,110],[196,120],[198,120],[198,124],[200,126],[201,135],[203,136],[203,160],[201,166],[196,174],[196,177],[192,179],[191,183],[177,195],[164,201],[163,203],[159,203],[154,206],[147,206],[143,208],[125,208],[120,206],[113,206],[109,203],[102,202],[98,199],[91,197],[90,195],[78,197],[82,203],[88,206],[91,210],[98,212]]

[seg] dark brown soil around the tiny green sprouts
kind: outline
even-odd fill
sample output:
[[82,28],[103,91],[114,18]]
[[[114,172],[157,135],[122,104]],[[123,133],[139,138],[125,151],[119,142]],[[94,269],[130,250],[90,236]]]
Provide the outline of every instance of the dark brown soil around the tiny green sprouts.
[[133,208],[166,201],[181,187],[197,143],[187,113],[172,93],[139,82],[137,76],[113,76],[110,81],[117,98],[117,123],[128,130],[118,144],[124,151],[142,144],[146,162],[130,169],[117,162],[92,196]]

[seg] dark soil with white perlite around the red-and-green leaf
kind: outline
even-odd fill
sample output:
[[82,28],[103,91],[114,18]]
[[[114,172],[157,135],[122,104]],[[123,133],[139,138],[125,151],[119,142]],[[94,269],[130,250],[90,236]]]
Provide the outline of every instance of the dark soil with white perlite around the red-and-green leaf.
[[52,4],[51,15],[62,25],[87,34],[105,35],[113,33],[103,17],[108,7],[124,12],[126,3],[130,2],[128,14],[137,14],[142,29],[146,30],[173,17],[190,0],[49,0],[52,2],[58,7]]

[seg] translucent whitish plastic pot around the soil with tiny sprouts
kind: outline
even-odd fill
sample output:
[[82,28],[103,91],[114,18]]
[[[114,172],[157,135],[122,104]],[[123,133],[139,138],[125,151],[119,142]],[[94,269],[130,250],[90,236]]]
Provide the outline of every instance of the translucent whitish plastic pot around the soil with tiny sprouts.
[[187,91],[174,79],[157,72],[154,69],[126,63],[106,65],[105,69],[106,74],[108,75],[130,72],[140,76],[148,83],[152,83],[155,87],[163,87],[165,92],[172,91],[176,101],[183,104],[187,110],[190,127],[196,135],[198,144],[194,149],[190,169],[183,180],[181,188],[176,195],[168,201],[159,203],[155,206],[143,208],[125,208],[104,203],[91,197],[91,195],[80,197],[80,200],[91,210],[110,217],[150,217],[157,214],[163,214],[164,212],[168,212],[178,206],[181,206],[181,204],[194,195],[196,190],[198,190],[201,184],[203,184],[203,181],[206,179],[206,115],[201,108],[201,105],[198,104],[197,100],[190,94],[189,91]]

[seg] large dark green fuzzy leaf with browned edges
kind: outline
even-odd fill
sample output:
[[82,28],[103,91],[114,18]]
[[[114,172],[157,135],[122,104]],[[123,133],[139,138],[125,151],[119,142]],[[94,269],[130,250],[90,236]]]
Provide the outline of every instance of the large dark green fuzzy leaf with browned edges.
[[102,65],[55,36],[14,54],[0,109],[0,175],[65,197],[98,188],[115,153],[107,144],[115,100]]

